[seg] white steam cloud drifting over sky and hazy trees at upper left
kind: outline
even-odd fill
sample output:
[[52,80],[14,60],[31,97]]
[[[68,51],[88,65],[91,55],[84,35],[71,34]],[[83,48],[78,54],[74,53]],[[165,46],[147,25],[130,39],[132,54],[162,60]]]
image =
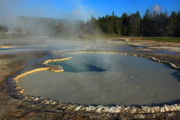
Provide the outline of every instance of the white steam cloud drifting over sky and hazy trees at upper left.
[[[76,33],[79,23],[94,14],[92,9],[83,5],[82,0],[62,0],[56,7],[50,3],[57,0],[34,2],[32,5],[24,0],[0,0],[0,25],[6,26],[10,32],[28,35],[54,35],[56,26],[61,26],[59,31],[63,33]],[[62,6],[61,2],[66,6]]]

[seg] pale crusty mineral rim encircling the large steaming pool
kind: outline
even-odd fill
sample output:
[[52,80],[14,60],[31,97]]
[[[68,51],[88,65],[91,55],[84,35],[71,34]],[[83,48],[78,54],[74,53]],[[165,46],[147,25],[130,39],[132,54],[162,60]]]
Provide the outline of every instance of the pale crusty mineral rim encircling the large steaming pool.
[[[88,53],[89,52],[89,53]],[[96,52],[96,51],[68,51],[68,52],[63,52],[63,54],[72,54],[72,53],[78,53],[78,54],[99,54],[99,53],[105,53],[105,52]],[[175,69],[175,70],[178,70],[180,71],[180,69],[174,65],[173,63],[169,63],[169,62],[166,62],[166,61],[161,61],[155,57],[147,57],[147,56],[144,56],[144,55],[138,55],[138,54],[129,54],[127,52],[106,52],[106,53],[114,53],[114,54],[119,54],[119,55],[126,55],[126,56],[135,56],[135,57],[142,57],[142,58],[145,58],[145,59],[149,59],[149,60],[152,60],[152,61],[155,61],[155,62],[158,62],[158,63],[161,63],[161,64],[165,64],[165,65],[168,65],[168,67],[172,68],[172,69]],[[49,60],[49,59],[48,59]],[[41,61],[41,63],[43,63],[43,61]],[[14,74],[10,75],[8,78],[7,78],[7,84],[8,84],[8,93],[11,97],[13,98],[16,98],[16,99],[29,99],[30,98],[33,98],[31,99],[29,102],[37,102],[37,99],[40,99],[40,98],[43,98],[47,101],[54,101],[58,104],[63,104],[65,106],[71,106],[71,105],[74,105],[76,106],[76,109],[75,111],[77,110],[81,110],[81,109],[85,109],[85,108],[88,108],[89,107],[92,107],[94,109],[108,109],[108,110],[103,110],[101,112],[110,112],[110,113],[116,113],[117,111],[111,111],[112,108],[119,108],[119,107],[122,107],[124,109],[128,109],[129,113],[132,113],[131,110],[134,110],[134,109],[142,109],[142,110],[136,110],[136,112],[134,113],[155,113],[154,110],[150,110],[149,109],[155,109],[155,108],[158,108],[159,109],[159,112],[176,112],[176,111],[180,111],[180,99],[177,99],[175,101],[170,101],[170,102],[165,102],[165,103],[159,103],[159,104],[148,104],[148,105],[117,105],[117,104],[111,104],[111,105],[96,105],[96,104],[92,104],[92,105],[81,105],[81,104],[74,104],[74,103],[63,103],[62,101],[60,100],[54,100],[54,99],[51,99],[51,98],[44,98],[42,96],[33,96],[33,95],[24,95],[24,94],[20,94],[17,90],[16,90],[16,87],[15,86],[16,84],[13,83],[13,78],[18,75],[19,73],[21,73],[21,70],[23,68],[21,68],[20,70],[16,71]],[[49,105],[49,104],[46,104],[46,105]],[[79,109],[78,109],[78,108]],[[83,108],[84,107],[84,108]],[[98,112],[99,110],[97,110],[96,112]],[[144,111],[144,112],[143,112]],[[121,113],[118,112],[118,113]],[[127,111],[125,112],[127,113]]]

